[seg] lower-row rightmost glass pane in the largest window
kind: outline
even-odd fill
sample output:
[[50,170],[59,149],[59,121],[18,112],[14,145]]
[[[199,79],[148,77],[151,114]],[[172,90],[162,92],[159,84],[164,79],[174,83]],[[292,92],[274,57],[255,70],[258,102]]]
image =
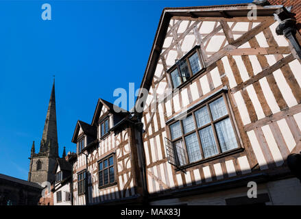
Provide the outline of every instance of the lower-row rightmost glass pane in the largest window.
[[215,124],[215,129],[217,130],[217,138],[219,138],[219,144],[221,145],[221,152],[230,151],[238,147],[230,118],[226,118]]

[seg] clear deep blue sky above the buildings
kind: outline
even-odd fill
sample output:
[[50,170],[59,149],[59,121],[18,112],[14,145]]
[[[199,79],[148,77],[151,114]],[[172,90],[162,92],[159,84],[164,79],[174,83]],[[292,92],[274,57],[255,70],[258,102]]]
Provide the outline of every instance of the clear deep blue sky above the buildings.
[[[59,153],[77,120],[91,123],[97,99],[139,88],[162,9],[250,1],[1,1],[0,173],[27,180],[40,147],[56,75]],[[43,3],[51,21],[43,21]]]

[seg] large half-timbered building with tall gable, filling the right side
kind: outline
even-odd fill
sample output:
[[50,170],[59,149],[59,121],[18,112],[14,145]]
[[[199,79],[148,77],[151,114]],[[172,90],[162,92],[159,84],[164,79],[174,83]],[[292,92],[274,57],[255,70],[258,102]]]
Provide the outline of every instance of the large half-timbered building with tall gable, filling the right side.
[[136,114],[149,203],[301,204],[287,167],[301,151],[300,34],[281,5],[252,9],[163,10]]

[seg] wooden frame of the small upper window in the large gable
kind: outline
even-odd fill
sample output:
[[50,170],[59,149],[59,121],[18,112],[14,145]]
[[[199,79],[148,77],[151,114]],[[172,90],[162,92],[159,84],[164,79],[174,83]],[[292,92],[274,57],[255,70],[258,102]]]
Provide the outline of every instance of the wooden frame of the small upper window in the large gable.
[[[195,53],[197,53],[197,56],[199,57],[200,60],[200,64],[201,64],[201,68],[200,70],[197,71],[197,73],[193,74],[192,69],[191,69],[191,64],[189,62],[189,58],[194,55]],[[186,79],[186,81],[183,81],[180,71],[180,64],[183,61],[186,61],[186,64],[188,66],[188,70],[189,70],[189,75],[190,77],[188,79]],[[178,69],[178,77],[180,77],[180,81],[181,83],[179,84],[178,87],[175,87],[173,84],[173,79],[171,77],[171,73],[173,73],[174,70]],[[197,77],[197,75],[200,75],[201,73],[204,73],[204,71],[206,70],[206,66],[204,63],[204,60],[202,58],[202,54],[200,53],[200,46],[196,45],[195,47],[193,47],[193,49],[191,49],[188,53],[186,53],[186,55],[184,55],[180,60],[178,60],[176,62],[176,64],[174,64],[173,66],[171,66],[171,68],[169,68],[167,70],[167,75],[169,75],[169,81],[171,82],[171,86],[173,89],[180,89],[182,88],[186,83],[189,83],[188,81],[191,81],[193,78]]]

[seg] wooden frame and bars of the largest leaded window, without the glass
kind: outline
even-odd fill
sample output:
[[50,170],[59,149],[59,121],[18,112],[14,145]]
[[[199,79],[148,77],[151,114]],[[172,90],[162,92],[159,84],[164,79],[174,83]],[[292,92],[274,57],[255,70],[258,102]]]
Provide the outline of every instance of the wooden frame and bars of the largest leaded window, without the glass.
[[[221,116],[221,118],[213,120],[212,114],[210,112],[209,104],[213,103],[213,101],[216,101],[220,97],[223,97],[223,99],[224,99],[224,103],[226,105],[226,110],[227,110],[228,114],[225,115],[225,116]],[[197,110],[200,110],[202,107],[205,107],[205,106],[207,107],[208,116],[210,118],[210,123],[207,123],[206,125],[203,125],[202,127],[197,127],[197,120],[195,118],[195,112],[197,112]],[[240,140],[239,130],[237,129],[237,124],[234,121],[234,115],[233,115],[232,110],[230,108],[228,95],[225,92],[218,92],[215,96],[212,96],[210,99],[206,100],[204,103],[201,103],[200,105],[197,105],[197,106],[193,107],[193,109],[191,109],[191,111],[187,113],[186,118],[189,117],[189,116],[193,116],[193,122],[194,122],[194,125],[195,125],[195,129],[193,129],[192,131],[189,131],[187,133],[184,133],[184,125],[183,125],[182,120],[173,120],[173,121],[171,121],[170,123],[167,124],[168,130],[169,130],[169,139],[172,143],[173,151],[176,154],[176,162],[177,162],[177,165],[178,165],[178,168],[176,170],[182,170],[182,169],[188,168],[190,166],[195,166],[195,165],[198,165],[198,164],[202,164],[204,162],[208,162],[208,161],[213,160],[213,159],[219,159],[221,157],[230,155],[232,153],[238,153],[238,152],[241,152],[241,151],[244,150],[243,144]],[[219,139],[218,139],[218,136],[217,136],[217,132],[216,132],[216,129],[215,129],[215,124],[219,123],[221,120],[225,120],[226,118],[230,118],[230,123],[232,125],[234,136],[235,136],[235,139],[237,140],[237,148],[230,149],[229,151],[226,151],[226,152],[223,153],[223,152],[221,152],[221,146],[220,146]],[[173,125],[175,123],[178,123],[178,122],[180,122],[180,128],[181,128],[182,136],[180,136],[178,138],[175,138],[175,139],[172,139],[171,125]],[[209,127],[209,126],[211,126],[212,129],[213,129],[213,136],[214,136],[214,139],[215,139],[215,144],[216,144],[218,153],[216,155],[212,155],[210,157],[205,158],[199,131],[201,129],[204,129],[204,128]],[[198,142],[198,145],[200,147],[200,154],[202,155],[202,159],[199,159],[195,162],[190,162],[189,161],[189,155],[188,155],[188,150],[187,150],[186,141],[185,141],[185,137],[191,135],[192,133],[197,134],[197,142]],[[178,142],[179,140],[182,140],[182,144],[184,146],[184,151],[185,151],[184,156],[186,158],[186,164],[184,164],[182,166],[179,165],[178,152],[176,151],[176,148],[174,146],[174,144],[176,142]]]

